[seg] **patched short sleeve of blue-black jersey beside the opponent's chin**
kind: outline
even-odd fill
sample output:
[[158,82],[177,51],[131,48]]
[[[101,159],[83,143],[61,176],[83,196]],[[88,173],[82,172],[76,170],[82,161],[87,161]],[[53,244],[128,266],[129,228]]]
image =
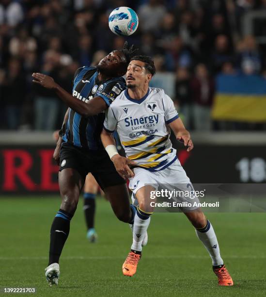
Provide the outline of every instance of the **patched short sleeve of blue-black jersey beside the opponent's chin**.
[[96,96],[105,100],[106,104],[110,106],[114,99],[125,90],[125,82],[110,81],[107,82],[103,88],[99,88]]

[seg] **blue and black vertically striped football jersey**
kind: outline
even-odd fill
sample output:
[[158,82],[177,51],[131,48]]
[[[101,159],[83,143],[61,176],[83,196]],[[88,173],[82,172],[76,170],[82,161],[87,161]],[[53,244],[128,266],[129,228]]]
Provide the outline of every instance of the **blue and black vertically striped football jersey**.
[[[76,71],[73,84],[72,95],[77,100],[87,103],[94,96],[101,97],[107,106],[110,106],[112,101],[125,90],[123,77],[99,82],[97,69],[87,66]],[[63,142],[79,148],[104,149],[100,139],[104,119],[104,111],[98,115],[84,117],[70,109],[66,129],[62,136]]]

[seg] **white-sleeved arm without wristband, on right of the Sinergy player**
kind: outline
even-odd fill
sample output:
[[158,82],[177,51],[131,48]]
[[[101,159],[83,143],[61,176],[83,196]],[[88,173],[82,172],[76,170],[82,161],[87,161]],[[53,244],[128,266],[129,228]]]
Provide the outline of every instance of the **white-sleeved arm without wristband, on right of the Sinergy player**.
[[172,99],[164,94],[163,95],[163,107],[165,112],[165,122],[170,126],[177,140],[184,142],[184,146],[188,147],[188,151],[193,149],[193,143],[190,137],[190,133],[186,130],[181,118],[174,107]]

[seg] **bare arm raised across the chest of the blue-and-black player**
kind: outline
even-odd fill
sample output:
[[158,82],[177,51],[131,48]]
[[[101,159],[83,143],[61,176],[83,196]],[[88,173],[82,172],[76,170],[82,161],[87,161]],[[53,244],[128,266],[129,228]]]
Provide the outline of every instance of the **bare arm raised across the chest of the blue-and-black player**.
[[53,90],[56,95],[72,108],[79,115],[88,117],[91,115],[97,115],[107,108],[107,104],[101,97],[94,97],[88,103],[77,98],[66,92],[54,79],[46,74],[32,73],[32,82],[39,84],[49,90]]

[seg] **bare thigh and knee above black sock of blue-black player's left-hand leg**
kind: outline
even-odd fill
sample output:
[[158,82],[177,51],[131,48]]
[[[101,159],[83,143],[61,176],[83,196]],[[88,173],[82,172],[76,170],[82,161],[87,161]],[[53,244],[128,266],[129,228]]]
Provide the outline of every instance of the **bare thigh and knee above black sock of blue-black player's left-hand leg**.
[[84,179],[76,169],[65,168],[59,172],[58,180],[62,197],[61,209],[73,213],[77,208]]

